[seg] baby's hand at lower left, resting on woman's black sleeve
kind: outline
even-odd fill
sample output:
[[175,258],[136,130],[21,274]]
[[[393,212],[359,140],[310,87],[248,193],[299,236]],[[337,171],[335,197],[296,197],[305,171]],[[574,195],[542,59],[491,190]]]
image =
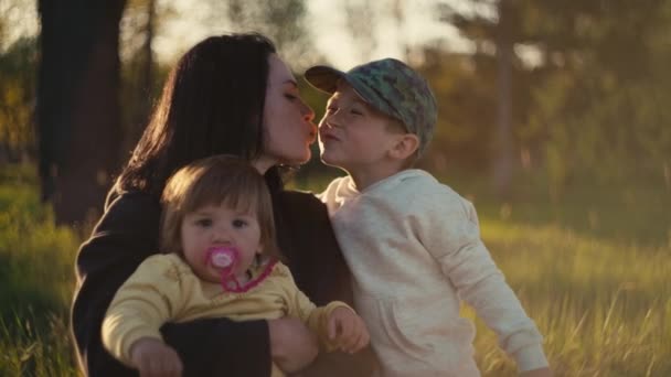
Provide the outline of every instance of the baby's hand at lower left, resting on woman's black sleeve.
[[182,375],[180,356],[155,338],[142,337],[130,347],[130,362],[141,377],[179,377]]

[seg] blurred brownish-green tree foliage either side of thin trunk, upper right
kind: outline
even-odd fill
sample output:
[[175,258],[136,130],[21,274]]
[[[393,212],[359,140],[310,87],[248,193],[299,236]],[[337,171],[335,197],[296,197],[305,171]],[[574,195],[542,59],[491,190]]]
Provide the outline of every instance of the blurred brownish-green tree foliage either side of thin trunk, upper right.
[[[441,106],[452,110],[444,115],[439,137],[456,132],[449,127],[452,123],[478,134],[450,150],[460,154],[457,163],[492,161],[490,150],[481,146],[492,143],[490,106],[498,100],[488,85],[498,79],[496,10],[502,1],[469,3],[471,11],[464,12],[444,2],[443,14],[473,42],[475,53],[462,58],[470,65],[455,71],[454,56],[429,51],[443,58],[432,60],[427,67],[434,73],[432,83],[439,87]],[[671,99],[671,75],[663,62],[671,45],[663,35],[671,31],[671,3],[523,0],[505,4],[516,52],[513,131],[516,149],[525,155],[521,164],[542,165],[555,198],[584,173],[618,183],[668,175],[671,115],[662,109]],[[478,90],[484,98],[473,95]],[[451,106],[459,95],[472,105]],[[489,154],[483,158],[483,152]]]

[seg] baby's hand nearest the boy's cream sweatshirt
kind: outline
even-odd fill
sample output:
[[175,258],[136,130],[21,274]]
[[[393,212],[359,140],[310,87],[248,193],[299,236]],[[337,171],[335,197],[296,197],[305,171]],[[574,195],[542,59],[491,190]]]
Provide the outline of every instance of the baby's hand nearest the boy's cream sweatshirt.
[[337,308],[329,316],[329,340],[353,354],[369,344],[369,331],[363,320],[348,308]]

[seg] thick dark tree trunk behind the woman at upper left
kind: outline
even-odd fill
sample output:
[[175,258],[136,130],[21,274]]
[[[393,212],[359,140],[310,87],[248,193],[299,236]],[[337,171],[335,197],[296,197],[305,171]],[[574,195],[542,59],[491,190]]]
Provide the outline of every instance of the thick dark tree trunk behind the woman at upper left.
[[42,198],[57,224],[94,218],[118,168],[119,22],[126,0],[39,0]]

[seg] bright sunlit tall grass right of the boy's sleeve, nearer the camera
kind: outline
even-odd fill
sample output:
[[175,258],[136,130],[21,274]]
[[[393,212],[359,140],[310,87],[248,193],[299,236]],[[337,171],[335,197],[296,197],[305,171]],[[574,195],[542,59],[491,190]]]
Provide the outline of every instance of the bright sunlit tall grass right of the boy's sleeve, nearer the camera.
[[[557,376],[671,375],[668,248],[619,246],[554,226],[483,222],[483,238],[545,335]],[[472,311],[466,310],[472,317]],[[478,322],[487,376],[514,376]]]

